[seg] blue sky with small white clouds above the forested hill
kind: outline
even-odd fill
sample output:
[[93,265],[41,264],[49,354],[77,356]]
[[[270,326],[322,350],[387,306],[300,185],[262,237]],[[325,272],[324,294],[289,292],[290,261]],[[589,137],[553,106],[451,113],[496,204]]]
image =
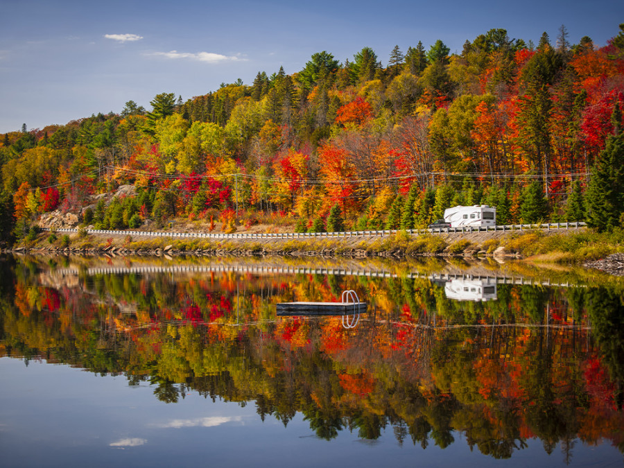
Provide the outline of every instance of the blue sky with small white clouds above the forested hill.
[[491,28],[554,44],[598,46],[618,33],[617,0],[340,1],[3,0],[0,8],[0,133],[121,112],[133,100],[187,98],[258,71],[300,71],[328,51],[341,62],[364,46],[387,64],[390,51],[441,39],[461,51]]

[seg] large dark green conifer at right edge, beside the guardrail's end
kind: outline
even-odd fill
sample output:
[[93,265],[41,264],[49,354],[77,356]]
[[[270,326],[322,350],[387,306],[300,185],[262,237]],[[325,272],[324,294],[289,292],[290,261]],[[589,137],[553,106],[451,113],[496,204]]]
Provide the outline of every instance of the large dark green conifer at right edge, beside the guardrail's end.
[[607,138],[587,187],[587,225],[608,231],[624,212],[624,134]]

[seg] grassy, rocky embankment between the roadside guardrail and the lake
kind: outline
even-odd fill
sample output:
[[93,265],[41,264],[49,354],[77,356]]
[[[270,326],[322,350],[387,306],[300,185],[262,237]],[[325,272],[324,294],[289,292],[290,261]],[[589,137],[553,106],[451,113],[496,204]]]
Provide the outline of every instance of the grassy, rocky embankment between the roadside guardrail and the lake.
[[383,237],[317,239],[193,239],[173,237],[100,236],[41,233],[24,239],[27,249],[102,252],[196,252],[201,254],[323,255],[346,257],[419,257],[424,255],[480,257],[512,255],[541,263],[575,264],[624,252],[624,229],[597,233],[569,231],[479,232],[410,236],[399,232]]

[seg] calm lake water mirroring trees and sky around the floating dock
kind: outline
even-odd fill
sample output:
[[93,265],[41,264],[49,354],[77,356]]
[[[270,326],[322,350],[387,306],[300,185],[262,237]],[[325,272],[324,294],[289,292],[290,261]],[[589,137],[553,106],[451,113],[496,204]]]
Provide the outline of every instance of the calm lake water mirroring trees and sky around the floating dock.
[[[624,286],[521,264],[3,257],[0,453],[621,466]],[[367,302],[278,317],[283,302]]]

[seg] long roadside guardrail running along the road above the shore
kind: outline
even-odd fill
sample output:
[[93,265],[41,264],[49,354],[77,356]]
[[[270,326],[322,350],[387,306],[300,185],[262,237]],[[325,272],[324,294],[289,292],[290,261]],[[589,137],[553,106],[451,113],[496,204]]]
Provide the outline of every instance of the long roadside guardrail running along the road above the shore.
[[[407,229],[410,235],[422,236],[425,234],[449,234],[467,232],[496,232],[496,231],[528,231],[531,229],[578,229],[587,226],[586,223],[544,223],[544,224],[510,224],[485,227],[436,227],[435,229]],[[42,228],[50,231],[49,227]],[[56,232],[78,232],[78,229],[55,229]],[[255,234],[221,234],[212,232],[166,232],[166,231],[111,231],[107,229],[85,229],[87,234],[105,234],[110,236],[148,236],[148,237],[171,237],[193,239],[311,239],[327,237],[373,237],[390,236],[401,232],[397,229],[385,229],[383,231],[345,231],[345,232],[259,232]]]

